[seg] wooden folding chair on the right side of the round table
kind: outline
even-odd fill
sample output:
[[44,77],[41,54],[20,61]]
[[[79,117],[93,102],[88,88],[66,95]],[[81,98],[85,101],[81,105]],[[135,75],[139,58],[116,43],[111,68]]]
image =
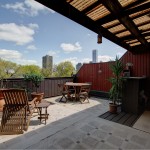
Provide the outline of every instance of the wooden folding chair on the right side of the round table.
[[89,102],[89,92],[91,89],[91,84],[89,85],[82,85],[79,92],[80,102],[83,103],[85,100]]

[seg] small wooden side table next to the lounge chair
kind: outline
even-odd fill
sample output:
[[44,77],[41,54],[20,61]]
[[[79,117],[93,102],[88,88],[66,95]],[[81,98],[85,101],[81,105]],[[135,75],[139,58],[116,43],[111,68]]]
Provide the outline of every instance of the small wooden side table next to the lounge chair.
[[[36,108],[39,109],[39,117],[38,119],[40,119],[40,123],[41,120],[44,119],[45,120],[45,125],[46,125],[46,120],[48,119],[48,113],[47,113],[47,108],[50,105],[50,103],[48,101],[42,100],[41,103],[39,103]],[[42,113],[42,109],[45,109],[45,112]]]

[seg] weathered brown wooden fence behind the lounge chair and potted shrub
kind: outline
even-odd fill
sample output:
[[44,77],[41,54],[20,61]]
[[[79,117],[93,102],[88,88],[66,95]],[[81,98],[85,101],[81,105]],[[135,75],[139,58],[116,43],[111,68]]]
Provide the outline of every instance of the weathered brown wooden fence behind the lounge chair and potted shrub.
[[[58,78],[45,78],[39,88],[38,92],[44,92],[44,97],[54,97],[61,95],[60,90],[58,88],[58,83],[72,82],[73,77],[58,77]],[[32,82],[26,82],[23,78],[13,78],[13,79],[5,79],[4,87],[6,88],[25,88],[28,93],[35,91],[35,87],[33,87]]]

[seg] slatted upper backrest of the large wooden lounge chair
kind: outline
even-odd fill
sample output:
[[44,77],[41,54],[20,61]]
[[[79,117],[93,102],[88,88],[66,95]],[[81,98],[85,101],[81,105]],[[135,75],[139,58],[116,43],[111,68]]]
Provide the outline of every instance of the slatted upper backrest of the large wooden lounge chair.
[[5,105],[28,105],[27,92],[24,89],[3,89]]

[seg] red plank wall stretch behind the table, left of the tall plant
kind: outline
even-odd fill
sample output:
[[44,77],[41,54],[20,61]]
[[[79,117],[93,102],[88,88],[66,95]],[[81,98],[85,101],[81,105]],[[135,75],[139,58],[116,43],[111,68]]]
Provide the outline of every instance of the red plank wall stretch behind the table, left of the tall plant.
[[92,90],[108,91],[111,87],[108,81],[108,78],[112,75],[109,69],[111,63],[84,64],[77,74],[78,82],[91,82]]

